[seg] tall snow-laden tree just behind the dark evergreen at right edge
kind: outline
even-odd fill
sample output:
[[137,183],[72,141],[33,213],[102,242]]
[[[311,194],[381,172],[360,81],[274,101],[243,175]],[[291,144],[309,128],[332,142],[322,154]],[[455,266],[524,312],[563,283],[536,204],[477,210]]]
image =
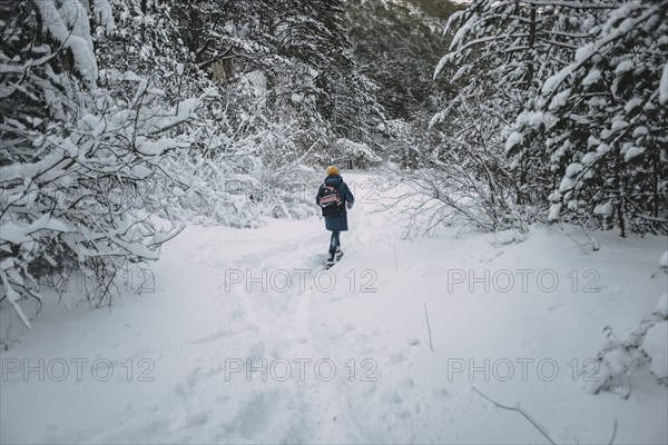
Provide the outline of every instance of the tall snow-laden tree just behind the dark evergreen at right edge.
[[[548,109],[571,109],[571,78],[564,81],[571,75],[571,60],[587,52],[586,48],[605,32],[613,8],[607,1],[478,0],[449,20],[445,31],[453,33],[453,41],[435,76],[450,76],[459,82],[459,91],[432,120],[444,135],[439,160],[450,164],[451,154],[456,151],[455,162],[464,162],[464,169],[475,172],[474,179],[483,179],[482,188],[474,187],[480,188],[475,192],[479,200],[497,209],[498,216],[509,216],[493,219],[511,225],[544,219],[550,199],[560,199],[552,191],[559,187],[566,166],[561,171],[551,168],[553,155],[569,151],[571,140],[563,132],[581,122],[573,122],[574,116],[561,115],[563,119],[554,127],[558,130],[547,140],[529,129],[544,128]],[[601,60],[608,63],[606,57]],[[556,91],[559,86],[563,89]],[[600,99],[587,95],[583,102]],[[579,112],[582,116],[584,111]],[[485,167],[481,170],[468,165]],[[574,169],[569,177],[577,174]],[[463,188],[468,192],[471,186]],[[552,214],[558,210],[552,207]]]

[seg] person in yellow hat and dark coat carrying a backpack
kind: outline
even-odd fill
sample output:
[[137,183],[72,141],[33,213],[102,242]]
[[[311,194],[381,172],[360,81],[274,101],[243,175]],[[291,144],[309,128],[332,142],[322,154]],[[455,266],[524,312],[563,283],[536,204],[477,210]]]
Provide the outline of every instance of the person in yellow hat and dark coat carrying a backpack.
[[330,255],[327,257],[327,267],[334,265],[343,256],[341,250],[341,233],[347,230],[347,211],[353,208],[355,197],[348,189],[348,186],[338,175],[338,168],[335,166],[327,167],[327,177],[321,184],[315,202],[323,210],[325,217],[325,228],[332,231],[330,238]]

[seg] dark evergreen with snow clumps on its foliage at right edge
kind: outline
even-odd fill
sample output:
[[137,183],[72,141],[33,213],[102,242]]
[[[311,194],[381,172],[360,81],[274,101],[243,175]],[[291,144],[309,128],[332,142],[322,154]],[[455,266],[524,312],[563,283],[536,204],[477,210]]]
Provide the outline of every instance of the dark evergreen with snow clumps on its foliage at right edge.
[[518,117],[508,148],[521,161],[540,144],[557,176],[550,219],[667,233],[667,34],[665,1],[621,4]]

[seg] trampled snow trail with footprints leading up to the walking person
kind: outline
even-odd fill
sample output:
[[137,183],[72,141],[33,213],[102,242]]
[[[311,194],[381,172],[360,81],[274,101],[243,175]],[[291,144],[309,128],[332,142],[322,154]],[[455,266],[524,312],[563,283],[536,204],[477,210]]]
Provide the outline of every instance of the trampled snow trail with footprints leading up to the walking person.
[[[355,220],[353,215],[351,225],[367,222],[364,215],[357,218],[360,220]],[[295,229],[295,225],[302,227]],[[291,222],[285,226],[284,230],[281,230],[281,224],[274,227],[278,234],[269,233],[264,237],[264,230],[259,230],[261,234],[250,234],[247,240],[239,240],[245,250],[240,256],[222,256],[224,243],[206,244],[198,249],[198,259],[194,259],[194,264],[216,270],[218,289],[222,285],[226,286],[225,278],[244,277],[243,283],[235,283],[234,286],[227,284],[232,291],[225,289],[225,299],[233,299],[237,314],[229,320],[230,324],[238,323],[253,328],[248,332],[240,327],[242,330],[233,336],[223,337],[213,333],[204,337],[204,342],[224,339],[226,349],[238,337],[239,348],[224,357],[224,368],[240,366],[243,369],[225,376],[225,369],[220,368],[223,357],[218,356],[207,365],[206,372],[196,368],[186,378],[189,386],[184,394],[197,394],[198,386],[220,388],[235,385],[234,396],[242,400],[243,406],[227,425],[238,426],[232,426],[238,435],[227,435],[225,441],[275,442],[278,435],[289,442],[366,443],[373,437],[365,434],[354,418],[345,415],[346,408],[342,406],[342,402],[347,400],[342,400],[341,395],[350,392],[346,384],[354,369],[345,368],[350,358],[341,354],[346,349],[346,344],[332,339],[332,332],[343,320],[327,320],[322,312],[322,301],[318,301],[320,307],[314,307],[316,299],[343,298],[343,285],[335,286],[332,291],[323,291],[317,288],[320,281],[316,283],[315,277],[320,274],[324,281],[336,277],[337,283],[342,283],[345,269],[340,268],[348,258],[354,258],[355,249],[346,249],[347,256],[341,265],[322,273],[323,251],[328,240],[323,222]],[[370,228],[369,225],[365,227]],[[247,250],[250,240],[254,247]],[[362,250],[371,247],[361,243],[361,237],[347,244],[354,244],[356,249]],[[297,276],[295,270],[302,276]],[[274,276],[286,278],[288,274],[289,284],[272,279]],[[344,329],[353,330],[354,327],[348,324]],[[248,360],[268,376],[263,375],[262,370],[247,374]],[[316,369],[317,363],[322,366]],[[289,378],[285,377],[286,374],[289,374]],[[225,404],[228,404],[227,398],[222,399],[222,405]],[[218,411],[216,402],[208,398],[197,399],[190,405],[193,408],[184,421],[186,425],[190,418],[208,422],[205,413]],[[205,412],[197,411],[199,406],[205,407]],[[225,409],[224,406],[219,408]],[[275,431],[276,427],[281,432]]]

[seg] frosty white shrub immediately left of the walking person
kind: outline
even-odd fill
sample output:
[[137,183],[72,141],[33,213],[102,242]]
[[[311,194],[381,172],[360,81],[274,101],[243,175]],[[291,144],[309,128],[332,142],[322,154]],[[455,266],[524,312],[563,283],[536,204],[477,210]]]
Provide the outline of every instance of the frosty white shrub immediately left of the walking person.
[[272,119],[267,92],[258,88],[263,83],[258,72],[242,76],[203,107],[190,129],[194,144],[170,167],[180,184],[167,199],[169,216],[256,227],[264,217],[315,214],[311,195],[318,179],[303,164],[325,137],[317,127],[299,130],[289,116],[282,117],[287,121]]

